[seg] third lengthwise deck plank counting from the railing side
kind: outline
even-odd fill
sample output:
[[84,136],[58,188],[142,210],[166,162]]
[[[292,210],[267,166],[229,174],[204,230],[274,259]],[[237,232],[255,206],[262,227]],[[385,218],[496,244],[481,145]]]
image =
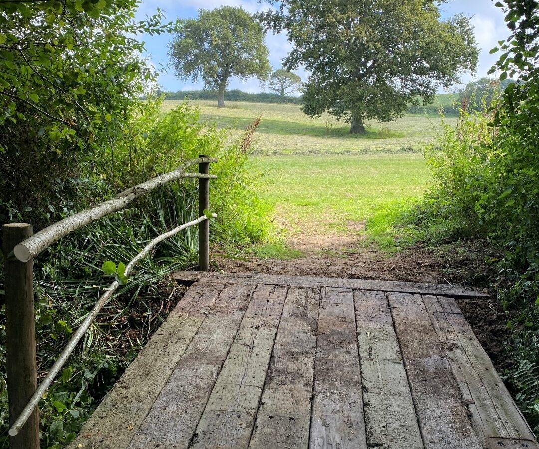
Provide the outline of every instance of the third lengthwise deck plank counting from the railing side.
[[248,446],[287,291],[263,285],[253,293],[190,447]]

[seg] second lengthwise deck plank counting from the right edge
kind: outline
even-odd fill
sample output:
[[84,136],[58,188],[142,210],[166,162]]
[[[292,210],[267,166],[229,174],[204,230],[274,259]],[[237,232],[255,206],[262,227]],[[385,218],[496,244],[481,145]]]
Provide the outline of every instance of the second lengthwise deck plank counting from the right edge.
[[389,293],[389,304],[425,449],[482,448],[421,296]]

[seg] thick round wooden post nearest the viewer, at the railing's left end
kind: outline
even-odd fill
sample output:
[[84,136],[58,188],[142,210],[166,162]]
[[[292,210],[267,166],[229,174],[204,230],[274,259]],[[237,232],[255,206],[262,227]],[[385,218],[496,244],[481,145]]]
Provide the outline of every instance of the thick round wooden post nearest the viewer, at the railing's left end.
[[[33,259],[9,257],[16,245],[32,235],[28,223],[3,225],[6,357],[10,426],[37,389],[36,326],[33,295]],[[39,449],[38,407],[16,436],[10,449]]]

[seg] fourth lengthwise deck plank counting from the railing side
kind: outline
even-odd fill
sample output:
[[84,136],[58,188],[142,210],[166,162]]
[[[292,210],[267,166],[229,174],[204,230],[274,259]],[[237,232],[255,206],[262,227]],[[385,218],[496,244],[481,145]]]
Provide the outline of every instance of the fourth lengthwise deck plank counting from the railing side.
[[320,291],[291,288],[250,449],[307,449]]

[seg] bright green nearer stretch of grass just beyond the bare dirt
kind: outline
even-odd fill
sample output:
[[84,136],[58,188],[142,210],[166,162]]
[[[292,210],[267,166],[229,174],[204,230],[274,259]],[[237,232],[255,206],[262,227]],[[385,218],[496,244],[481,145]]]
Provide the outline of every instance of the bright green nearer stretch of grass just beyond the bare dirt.
[[357,232],[391,250],[392,226],[429,184],[419,153],[263,156],[273,183],[259,194],[294,234]]

